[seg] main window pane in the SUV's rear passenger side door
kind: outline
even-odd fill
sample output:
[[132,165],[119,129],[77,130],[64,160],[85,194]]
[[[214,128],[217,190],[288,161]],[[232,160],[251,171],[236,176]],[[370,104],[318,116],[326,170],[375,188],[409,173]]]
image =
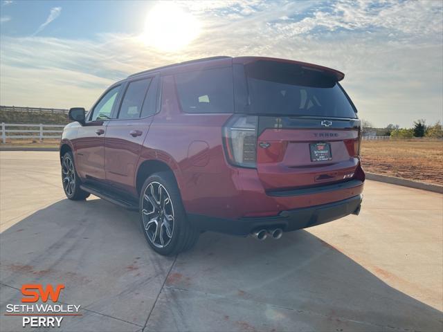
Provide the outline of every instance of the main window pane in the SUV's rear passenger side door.
[[120,107],[120,112],[118,113],[119,119],[140,118],[143,100],[145,100],[151,80],[151,78],[145,78],[128,84],[123,97],[122,106]]

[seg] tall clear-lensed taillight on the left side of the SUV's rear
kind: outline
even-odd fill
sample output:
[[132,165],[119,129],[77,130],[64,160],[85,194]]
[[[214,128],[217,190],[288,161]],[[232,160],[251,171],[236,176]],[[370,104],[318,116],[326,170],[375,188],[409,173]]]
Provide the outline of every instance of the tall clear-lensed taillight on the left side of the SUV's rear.
[[257,166],[257,116],[234,115],[223,128],[228,162],[235,166]]

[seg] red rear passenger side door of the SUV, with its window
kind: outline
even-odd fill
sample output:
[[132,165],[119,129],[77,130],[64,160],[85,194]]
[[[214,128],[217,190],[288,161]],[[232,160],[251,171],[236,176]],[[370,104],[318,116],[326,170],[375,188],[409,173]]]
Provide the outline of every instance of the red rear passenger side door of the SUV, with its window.
[[129,80],[125,86],[116,119],[105,135],[107,183],[136,194],[134,178],[143,141],[156,113],[159,77],[155,74]]

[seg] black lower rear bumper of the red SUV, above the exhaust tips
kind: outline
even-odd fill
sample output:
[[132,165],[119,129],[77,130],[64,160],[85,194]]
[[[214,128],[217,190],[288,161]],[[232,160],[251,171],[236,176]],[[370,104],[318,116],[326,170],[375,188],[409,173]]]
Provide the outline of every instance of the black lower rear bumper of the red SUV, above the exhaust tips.
[[221,219],[201,214],[188,214],[188,219],[199,230],[211,230],[226,234],[245,236],[253,230],[271,227],[279,227],[284,232],[290,232],[327,223],[358,212],[362,199],[363,196],[359,194],[334,203],[282,211],[278,216]]

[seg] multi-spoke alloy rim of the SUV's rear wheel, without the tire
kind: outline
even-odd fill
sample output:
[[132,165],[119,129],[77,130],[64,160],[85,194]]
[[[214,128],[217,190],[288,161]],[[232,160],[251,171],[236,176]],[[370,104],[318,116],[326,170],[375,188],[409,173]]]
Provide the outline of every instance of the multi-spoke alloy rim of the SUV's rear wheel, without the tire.
[[174,206],[168,190],[161,183],[147,185],[141,214],[143,228],[151,243],[157,248],[168,246],[174,233]]

